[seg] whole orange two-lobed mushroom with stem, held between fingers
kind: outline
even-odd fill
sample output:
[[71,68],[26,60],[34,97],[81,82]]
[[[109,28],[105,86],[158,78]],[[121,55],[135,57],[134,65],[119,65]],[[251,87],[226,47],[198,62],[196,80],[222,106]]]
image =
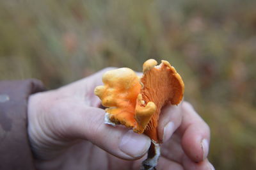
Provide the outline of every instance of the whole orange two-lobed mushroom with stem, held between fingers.
[[148,59],[143,64],[143,75],[138,77],[130,68],[118,68],[104,73],[104,86],[95,88],[95,95],[106,109],[105,123],[122,124],[134,132],[152,139],[144,169],[153,169],[160,155],[157,125],[161,108],[177,105],[182,100],[184,83],[175,68],[162,61]]

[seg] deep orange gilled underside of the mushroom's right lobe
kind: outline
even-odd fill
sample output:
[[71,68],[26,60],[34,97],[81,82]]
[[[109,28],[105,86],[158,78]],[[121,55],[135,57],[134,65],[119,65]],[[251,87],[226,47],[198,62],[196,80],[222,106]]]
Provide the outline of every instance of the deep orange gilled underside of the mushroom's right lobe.
[[[143,64],[143,76],[140,80],[141,84],[143,84],[143,88],[140,91],[143,102],[141,104],[137,103],[135,118],[138,124],[141,125],[139,121],[141,119],[138,118],[140,117],[138,110],[143,107],[146,108],[151,102],[156,105],[156,111],[152,114],[147,126],[142,128],[145,134],[159,143],[157,125],[161,109],[164,105],[177,105],[180,103],[184,94],[184,82],[168,61],[162,60],[160,65],[156,65],[157,62],[154,59],[149,59]],[[138,132],[141,132],[141,128],[138,129]]]

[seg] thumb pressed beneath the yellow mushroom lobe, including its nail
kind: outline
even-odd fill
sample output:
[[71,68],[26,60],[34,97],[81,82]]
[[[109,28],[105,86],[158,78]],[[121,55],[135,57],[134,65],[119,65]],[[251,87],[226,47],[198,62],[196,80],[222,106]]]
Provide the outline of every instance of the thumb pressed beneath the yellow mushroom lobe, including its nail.
[[[96,107],[79,105],[72,111],[67,135],[86,139],[116,157],[134,160],[142,157],[150,146],[150,138],[136,134],[122,126],[104,123],[105,111]],[[71,114],[69,114],[71,115]]]

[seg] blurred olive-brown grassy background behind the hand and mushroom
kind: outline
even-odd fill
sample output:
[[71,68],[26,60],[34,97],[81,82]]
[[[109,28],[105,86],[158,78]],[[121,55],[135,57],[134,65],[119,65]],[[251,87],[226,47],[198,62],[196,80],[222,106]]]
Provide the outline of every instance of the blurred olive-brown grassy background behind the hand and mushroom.
[[0,1],[0,79],[49,89],[165,59],[209,123],[216,169],[256,169],[256,1]]

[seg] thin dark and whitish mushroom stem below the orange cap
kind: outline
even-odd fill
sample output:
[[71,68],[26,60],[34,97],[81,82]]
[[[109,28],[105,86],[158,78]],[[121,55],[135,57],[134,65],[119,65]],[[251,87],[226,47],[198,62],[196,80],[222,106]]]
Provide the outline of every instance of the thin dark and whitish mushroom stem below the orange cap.
[[155,141],[151,141],[151,145],[148,150],[148,157],[146,160],[142,162],[141,170],[156,169],[159,157],[160,157],[160,145]]

